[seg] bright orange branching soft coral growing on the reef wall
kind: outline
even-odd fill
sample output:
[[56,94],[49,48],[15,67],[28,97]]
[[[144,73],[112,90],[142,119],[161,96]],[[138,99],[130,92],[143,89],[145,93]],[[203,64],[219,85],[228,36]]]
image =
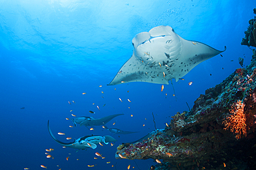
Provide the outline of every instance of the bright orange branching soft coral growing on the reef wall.
[[235,138],[241,138],[241,134],[246,136],[246,114],[244,113],[244,103],[241,100],[237,101],[232,105],[230,111],[230,116],[228,116],[223,124],[225,125],[225,130],[230,129],[233,134],[236,134]]

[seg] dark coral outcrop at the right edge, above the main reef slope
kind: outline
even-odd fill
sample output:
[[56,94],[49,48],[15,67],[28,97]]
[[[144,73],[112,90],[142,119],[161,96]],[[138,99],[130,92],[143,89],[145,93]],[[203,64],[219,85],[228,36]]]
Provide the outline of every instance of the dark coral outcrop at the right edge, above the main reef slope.
[[[256,9],[253,9],[253,13],[256,14]],[[250,19],[247,31],[244,32],[245,37],[241,41],[241,45],[256,47],[256,17]]]

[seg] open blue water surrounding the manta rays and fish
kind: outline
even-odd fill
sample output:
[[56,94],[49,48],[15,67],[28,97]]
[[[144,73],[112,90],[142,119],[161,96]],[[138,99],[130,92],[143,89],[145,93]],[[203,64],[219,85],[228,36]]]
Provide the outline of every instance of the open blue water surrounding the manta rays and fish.
[[[255,16],[255,7],[251,0],[1,0],[1,169],[42,169],[41,164],[62,170],[127,169],[128,164],[134,169],[149,169],[156,164],[154,160],[135,160],[138,167],[134,160],[116,160],[116,147],[153,131],[152,112],[156,128],[161,129],[177,111],[188,110],[186,102],[192,108],[205,89],[241,67],[239,57],[244,57],[244,65],[250,63],[252,52],[240,43],[248,20]],[[152,83],[107,86],[131,56],[131,39],[158,25],[170,25],[184,39],[201,41],[217,50],[226,45],[227,50],[223,57],[214,56],[194,67],[183,77],[185,81],[174,83],[177,100],[172,96],[172,85],[165,85],[163,92],[161,85]],[[72,100],[75,103],[69,105]],[[111,120],[109,127],[140,132],[119,137],[102,127],[94,127],[95,131],[70,128],[72,122],[65,120],[72,118],[71,114],[100,118],[119,113],[125,115]],[[63,142],[66,137],[91,134],[111,135],[118,142],[113,147],[98,145],[94,150],[62,149],[48,134],[48,120]],[[59,131],[66,136],[57,136]],[[45,149],[49,148],[54,149],[54,159],[46,158]],[[94,160],[95,152],[106,158]],[[89,168],[88,164],[97,165]]]

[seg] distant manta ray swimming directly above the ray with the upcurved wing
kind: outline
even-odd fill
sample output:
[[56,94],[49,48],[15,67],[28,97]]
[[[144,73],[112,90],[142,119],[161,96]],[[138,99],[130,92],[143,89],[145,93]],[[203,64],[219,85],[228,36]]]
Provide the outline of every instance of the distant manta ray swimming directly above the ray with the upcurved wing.
[[80,126],[101,126],[108,123],[110,120],[115,118],[116,116],[120,116],[124,114],[113,114],[110,116],[106,116],[104,118],[93,118],[93,117],[87,117],[87,116],[81,116],[77,118],[73,118],[72,122],[74,123],[75,127],[77,124],[80,124]]

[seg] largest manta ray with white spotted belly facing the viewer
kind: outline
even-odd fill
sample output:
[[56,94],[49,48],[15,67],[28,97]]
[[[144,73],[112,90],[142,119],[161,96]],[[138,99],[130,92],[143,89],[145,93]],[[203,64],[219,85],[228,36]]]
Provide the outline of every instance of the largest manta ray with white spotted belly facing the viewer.
[[136,34],[132,44],[134,54],[109,85],[136,81],[168,85],[172,78],[179,81],[199,63],[226,50],[226,46],[219,51],[198,41],[185,40],[170,26],[163,25]]

